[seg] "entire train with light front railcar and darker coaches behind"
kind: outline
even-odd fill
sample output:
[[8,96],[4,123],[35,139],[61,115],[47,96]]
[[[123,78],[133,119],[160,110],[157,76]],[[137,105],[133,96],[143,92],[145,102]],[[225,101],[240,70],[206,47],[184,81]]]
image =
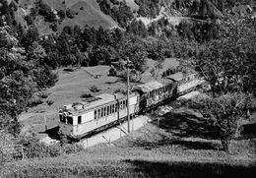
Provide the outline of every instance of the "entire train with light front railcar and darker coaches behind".
[[206,81],[197,73],[185,75],[178,72],[158,81],[135,86],[129,94],[129,106],[127,95],[122,93],[102,93],[64,105],[59,110],[59,133],[71,139],[81,139],[126,121],[127,107],[132,119],[205,84]]

